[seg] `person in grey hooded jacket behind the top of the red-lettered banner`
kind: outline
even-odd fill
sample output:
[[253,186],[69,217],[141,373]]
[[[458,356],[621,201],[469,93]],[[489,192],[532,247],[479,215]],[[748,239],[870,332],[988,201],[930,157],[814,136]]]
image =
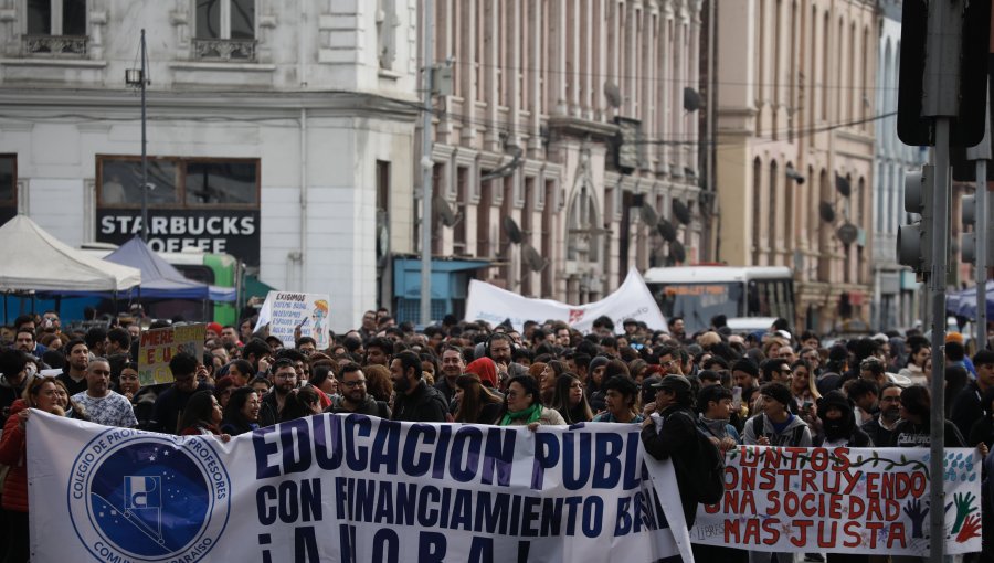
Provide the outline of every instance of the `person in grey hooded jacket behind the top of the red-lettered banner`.
[[[811,429],[791,413],[791,390],[783,383],[760,387],[760,413],[745,422],[742,444],[747,446],[811,447]],[[750,551],[749,563],[793,563],[790,552]]]

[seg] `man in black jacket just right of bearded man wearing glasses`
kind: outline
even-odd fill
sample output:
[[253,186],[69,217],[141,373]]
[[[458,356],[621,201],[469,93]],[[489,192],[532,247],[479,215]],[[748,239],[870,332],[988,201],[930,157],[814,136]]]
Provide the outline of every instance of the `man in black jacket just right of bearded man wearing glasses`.
[[390,361],[390,378],[396,397],[393,400],[393,419],[409,422],[446,422],[448,403],[442,392],[422,379],[421,358],[403,351]]

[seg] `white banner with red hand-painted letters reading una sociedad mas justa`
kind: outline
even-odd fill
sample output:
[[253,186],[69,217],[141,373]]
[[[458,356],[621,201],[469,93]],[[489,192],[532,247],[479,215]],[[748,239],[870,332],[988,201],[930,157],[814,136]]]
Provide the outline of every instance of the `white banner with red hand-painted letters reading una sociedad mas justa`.
[[[945,552],[981,549],[981,461],[947,448]],[[739,446],[691,541],[752,551],[929,555],[928,448]]]

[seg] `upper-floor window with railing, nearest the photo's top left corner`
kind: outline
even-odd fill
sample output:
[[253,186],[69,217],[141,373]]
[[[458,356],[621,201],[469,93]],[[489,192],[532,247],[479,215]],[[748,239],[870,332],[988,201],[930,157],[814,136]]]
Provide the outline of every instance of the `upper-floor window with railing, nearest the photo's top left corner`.
[[25,53],[86,55],[86,0],[27,0]]

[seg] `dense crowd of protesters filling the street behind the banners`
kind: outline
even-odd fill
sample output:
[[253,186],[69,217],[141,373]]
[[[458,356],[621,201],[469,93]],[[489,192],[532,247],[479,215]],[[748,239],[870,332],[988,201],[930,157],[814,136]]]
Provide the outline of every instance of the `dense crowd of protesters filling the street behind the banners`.
[[[929,446],[932,350],[921,333],[825,346],[814,332],[792,332],[785,320],[753,333],[734,333],[720,317],[711,323],[686,334],[679,318],[668,331],[627,319],[616,331],[601,317],[583,334],[561,321],[526,322],[519,331],[446,317],[417,332],[381,309],[319,350],[313,338],[282,342],[253,332],[255,319],[246,318],[239,326],[210,323],[202,358],[179,353],[169,362],[172,383],[142,387],[137,323],[73,331],[62,329],[54,311],[20,317],[4,330],[0,350],[2,561],[28,560],[30,408],[223,440],[322,412],[531,429],[634,424],[649,455],[675,461],[699,454],[695,432],[721,452],[740,444]],[[994,352],[970,357],[962,336],[950,333],[944,354],[945,446],[976,446],[986,455],[994,444]],[[683,487],[686,464],[675,466]],[[697,504],[684,500],[690,525]],[[992,511],[984,508],[986,524]],[[795,560],[729,548],[695,552],[700,561]]]

